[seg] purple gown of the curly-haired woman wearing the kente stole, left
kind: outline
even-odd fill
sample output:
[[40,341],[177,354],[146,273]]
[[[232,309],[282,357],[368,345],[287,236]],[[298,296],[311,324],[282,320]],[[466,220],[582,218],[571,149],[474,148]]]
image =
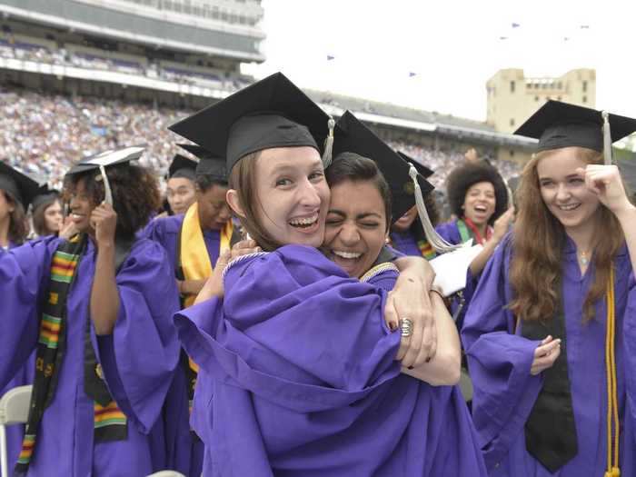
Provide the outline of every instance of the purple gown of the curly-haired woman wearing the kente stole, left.
[[[0,333],[0,386],[35,350],[39,303],[58,243],[46,237],[0,252],[0,320],[11,323]],[[94,405],[84,393],[84,331],[94,260],[89,243],[68,295],[65,358],[28,475],[146,475],[170,465],[159,416],[179,356],[171,323],[178,310],[172,270],[161,246],[138,240],[117,273],[121,303],[114,332],[96,336],[93,331],[92,341],[108,388],[128,417],[128,439],[94,443]]]

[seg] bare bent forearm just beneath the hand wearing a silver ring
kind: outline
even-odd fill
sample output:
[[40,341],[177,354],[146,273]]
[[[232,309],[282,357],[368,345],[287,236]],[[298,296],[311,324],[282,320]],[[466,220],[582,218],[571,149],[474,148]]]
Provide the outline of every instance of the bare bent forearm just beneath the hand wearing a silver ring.
[[457,327],[439,293],[431,292],[432,315],[437,327],[437,353],[428,363],[413,369],[402,367],[408,374],[433,386],[451,386],[459,383],[462,351]]

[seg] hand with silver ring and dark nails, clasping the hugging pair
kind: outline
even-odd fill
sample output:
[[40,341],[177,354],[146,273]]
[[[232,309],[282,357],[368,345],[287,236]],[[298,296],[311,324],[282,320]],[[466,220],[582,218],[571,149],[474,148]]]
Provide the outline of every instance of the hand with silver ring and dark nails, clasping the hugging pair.
[[432,360],[437,349],[437,328],[429,297],[435,272],[422,257],[404,256],[393,263],[400,276],[387,297],[384,319],[392,330],[401,319],[412,321],[412,335],[402,337],[396,359],[404,367],[416,367]]

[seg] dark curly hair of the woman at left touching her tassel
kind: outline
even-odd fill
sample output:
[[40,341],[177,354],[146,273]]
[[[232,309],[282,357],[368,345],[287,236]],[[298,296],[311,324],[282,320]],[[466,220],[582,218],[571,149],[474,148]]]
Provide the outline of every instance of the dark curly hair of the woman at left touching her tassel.
[[[157,181],[148,169],[129,163],[116,164],[106,169],[108,182],[113,191],[113,207],[117,213],[116,236],[131,239],[134,233],[148,223],[152,214],[161,205]],[[104,183],[95,180],[99,171],[67,175],[65,177],[65,200],[70,199],[75,187],[85,179],[84,187],[91,202],[96,206],[104,200]]]

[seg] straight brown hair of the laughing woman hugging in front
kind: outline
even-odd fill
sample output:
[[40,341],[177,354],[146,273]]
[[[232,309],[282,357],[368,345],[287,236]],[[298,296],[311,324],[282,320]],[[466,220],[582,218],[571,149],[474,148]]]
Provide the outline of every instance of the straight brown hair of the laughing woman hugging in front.
[[[273,239],[268,234],[263,224],[258,220],[257,208],[262,207],[261,202],[256,195],[256,161],[261,156],[261,152],[257,151],[252,154],[245,155],[232,168],[228,184],[230,189],[234,189],[238,196],[239,203],[243,208],[243,215],[237,214],[243,225],[243,229],[250,234],[250,237],[259,244],[266,252],[272,252],[283,244]],[[237,212],[237,211],[234,211]]]

